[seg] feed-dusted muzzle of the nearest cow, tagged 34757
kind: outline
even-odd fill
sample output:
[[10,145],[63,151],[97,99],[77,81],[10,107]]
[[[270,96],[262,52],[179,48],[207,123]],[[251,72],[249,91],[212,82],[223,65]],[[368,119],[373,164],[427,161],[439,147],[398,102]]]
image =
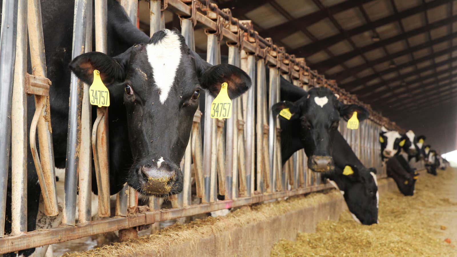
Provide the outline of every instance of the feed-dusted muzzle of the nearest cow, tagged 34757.
[[157,162],[134,165],[128,185],[145,196],[167,197],[182,192],[183,176],[179,166],[161,158]]

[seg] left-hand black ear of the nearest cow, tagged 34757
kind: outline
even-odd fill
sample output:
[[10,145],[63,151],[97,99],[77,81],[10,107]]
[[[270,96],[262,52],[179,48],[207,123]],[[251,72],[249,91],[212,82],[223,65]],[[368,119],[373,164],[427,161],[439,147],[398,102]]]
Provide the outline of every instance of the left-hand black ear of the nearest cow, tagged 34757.
[[124,53],[113,58],[100,52],[90,52],[74,58],[69,66],[74,75],[87,84],[92,84],[94,70],[99,70],[101,80],[109,85],[125,79],[125,56]]

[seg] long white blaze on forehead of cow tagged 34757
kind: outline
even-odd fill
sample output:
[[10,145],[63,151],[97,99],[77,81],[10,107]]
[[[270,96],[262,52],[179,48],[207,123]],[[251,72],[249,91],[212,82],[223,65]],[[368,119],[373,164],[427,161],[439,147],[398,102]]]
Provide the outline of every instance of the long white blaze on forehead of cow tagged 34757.
[[179,36],[164,29],[165,36],[157,43],[146,46],[149,64],[152,67],[154,86],[159,90],[159,100],[163,104],[168,98],[176,70],[181,60],[181,41]]

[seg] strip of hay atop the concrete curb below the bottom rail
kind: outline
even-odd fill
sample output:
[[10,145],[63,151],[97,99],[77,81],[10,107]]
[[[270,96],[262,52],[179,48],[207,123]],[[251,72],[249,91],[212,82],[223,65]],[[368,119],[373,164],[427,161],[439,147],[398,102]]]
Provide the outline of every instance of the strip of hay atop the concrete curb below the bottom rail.
[[[154,256],[163,255],[176,244],[196,242],[209,235],[218,234],[234,227],[243,227],[249,223],[268,220],[272,217],[303,209],[303,207],[327,202],[330,199],[341,198],[334,189],[324,193],[311,193],[306,197],[292,197],[285,201],[276,201],[243,207],[230,212],[224,217],[208,217],[205,220],[195,220],[185,225],[172,225],[152,235],[139,237],[111,246],[103,246],[94,250],[69,253],[64,256]],[[230,240],[230,239],[228,239]],[[194,249],[195,250],[195,249]],[[190,249],[191,251],[191,249]]]

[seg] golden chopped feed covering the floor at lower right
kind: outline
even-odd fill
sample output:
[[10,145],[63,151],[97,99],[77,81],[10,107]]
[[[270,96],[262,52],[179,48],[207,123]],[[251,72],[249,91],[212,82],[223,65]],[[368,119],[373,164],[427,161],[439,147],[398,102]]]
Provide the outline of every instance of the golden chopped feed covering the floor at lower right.
[[457,169],[438,172],[422,172],[412,197],[383,194],[379,224],[357,225],[345,211],[315,233],[279,241],[271,256],[457,256]]

